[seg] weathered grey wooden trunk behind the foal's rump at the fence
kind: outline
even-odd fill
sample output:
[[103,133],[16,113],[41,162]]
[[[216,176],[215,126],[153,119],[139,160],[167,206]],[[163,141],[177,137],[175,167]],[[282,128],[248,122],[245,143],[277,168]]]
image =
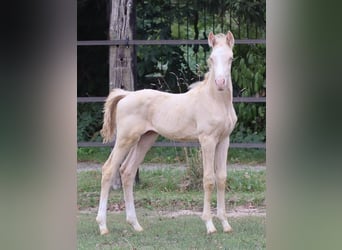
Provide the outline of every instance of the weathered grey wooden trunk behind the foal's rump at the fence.
[[[112,0],[109,39],[132,40],[135,30],[134,0]],[[109,90],[121,88],[134,90],[136,82],[135,46],[120,45],[109,48]],[[119,171],[114,177],[113,188],[121,187]]]

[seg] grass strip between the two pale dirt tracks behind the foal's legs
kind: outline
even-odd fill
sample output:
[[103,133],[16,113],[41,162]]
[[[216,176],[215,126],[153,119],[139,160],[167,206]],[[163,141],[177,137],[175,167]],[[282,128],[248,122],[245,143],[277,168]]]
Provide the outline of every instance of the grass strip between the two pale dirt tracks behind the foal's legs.
[[[179,169],[142,170],[141,182],[135,186],[137,208],[144,209],[190,209],[200,211],[203,206],[203,190],[184,188],[185,172]],[[86,171],[77,174],[77,202],[79,209],[98,206],[101,188],[101,172]],[[228,172],[226,200],[230,208],[240,205],[265,205],[265,171],[234,170]],[[123,204],[121,190],[112,191],[109,204]],[[212,196],[216,206],[216,195]]]

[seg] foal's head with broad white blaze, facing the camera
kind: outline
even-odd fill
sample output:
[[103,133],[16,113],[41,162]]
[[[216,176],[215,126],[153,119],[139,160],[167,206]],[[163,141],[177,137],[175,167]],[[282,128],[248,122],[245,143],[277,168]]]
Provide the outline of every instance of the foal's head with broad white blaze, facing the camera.
[[226,35],[214,35],[210,32],[208,43],[213,48],[208,59],[209,67],[214,72],[217,89],[222,91],[229,87],[231,81],[234,36],[230,31]]

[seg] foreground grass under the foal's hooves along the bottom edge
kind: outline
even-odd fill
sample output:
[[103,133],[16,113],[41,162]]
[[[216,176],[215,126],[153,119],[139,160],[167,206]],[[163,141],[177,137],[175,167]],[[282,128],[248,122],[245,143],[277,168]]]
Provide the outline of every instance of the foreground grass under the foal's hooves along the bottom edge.
[[101,236],[93,214],[79,214],[77,218],[77,249],[265,249],[265,218],[232,218],[234,231],[206,234],[198,216],[165,218],[140,211],[138,217],[144,231],[137,233],[125,222],[124,213],[110,214],[107,219],[110,233]]

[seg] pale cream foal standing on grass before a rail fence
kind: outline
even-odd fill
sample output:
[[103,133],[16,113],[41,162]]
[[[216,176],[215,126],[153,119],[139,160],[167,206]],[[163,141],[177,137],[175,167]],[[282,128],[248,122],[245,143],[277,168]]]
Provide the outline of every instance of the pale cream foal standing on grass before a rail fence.
[[229,137],[237,122],[233,107],[231,65],[234,36],[214,35],[207,60],[209,72],[204,80],[189,86],[189,91],[172,94],[152,89],[126,91],[114,89],[104,104],[101,135],[115,146],[102,167],[101,193],[96,221],[100,233],[107,234],[106,210],[111,183],[120,171],[124,193],[126,221],[142,231],[133,197],[137,169],[158,135],[176,141],[198,141],[203,160],[204,202],[202,220],[208,234],[216,232],[210,210],[211,195],[217,187],[217,217],[224,232],[231,232],[225,211],[225,184]]

